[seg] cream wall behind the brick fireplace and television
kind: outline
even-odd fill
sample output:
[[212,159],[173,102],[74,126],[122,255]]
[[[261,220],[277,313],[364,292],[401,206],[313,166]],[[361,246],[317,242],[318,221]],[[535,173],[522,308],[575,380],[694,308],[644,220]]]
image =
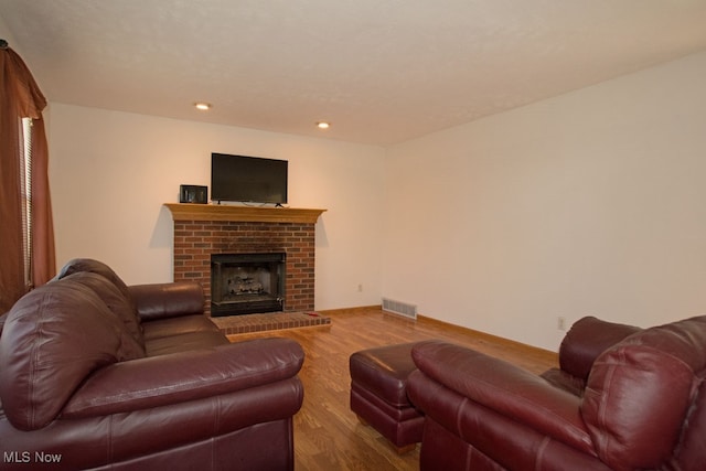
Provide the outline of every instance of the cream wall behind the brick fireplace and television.
[[[172,279],[179,185],[210,185],[211,152],[289,161],[289,205],[317,224],[315,308],[379,303],[384,149],[53,103],[57,265],[92,257],[128,283]],[[359,292],[359,285],[363,291]]]

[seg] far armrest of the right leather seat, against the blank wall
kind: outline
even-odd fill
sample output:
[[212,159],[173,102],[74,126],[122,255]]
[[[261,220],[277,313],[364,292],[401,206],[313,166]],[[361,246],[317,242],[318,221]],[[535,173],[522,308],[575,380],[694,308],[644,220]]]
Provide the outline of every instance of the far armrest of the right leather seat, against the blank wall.
[[559,347],[561,371],[586,382],[596,358],[606,350],[642,329],[607,322],[591,315],[576,321]]

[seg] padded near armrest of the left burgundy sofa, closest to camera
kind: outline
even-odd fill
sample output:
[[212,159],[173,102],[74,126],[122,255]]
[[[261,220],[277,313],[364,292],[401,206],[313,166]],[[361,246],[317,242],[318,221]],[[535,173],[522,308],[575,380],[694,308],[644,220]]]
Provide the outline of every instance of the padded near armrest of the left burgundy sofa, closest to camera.
[[97,417],[213,397],[295,377],[303,364],[290,339],[259,339],[115,363],[69,398],[63,418]]

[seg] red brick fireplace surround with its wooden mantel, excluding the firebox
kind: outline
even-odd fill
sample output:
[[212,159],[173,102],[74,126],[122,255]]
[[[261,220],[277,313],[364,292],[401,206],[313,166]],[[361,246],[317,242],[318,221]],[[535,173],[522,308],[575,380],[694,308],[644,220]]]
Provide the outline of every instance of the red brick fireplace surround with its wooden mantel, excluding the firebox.
[[314,309],[315,223],[325,210],[165,206],[174,220],[174,281],[199,281],[208,315],[213,254],[286,254],[285,311]]

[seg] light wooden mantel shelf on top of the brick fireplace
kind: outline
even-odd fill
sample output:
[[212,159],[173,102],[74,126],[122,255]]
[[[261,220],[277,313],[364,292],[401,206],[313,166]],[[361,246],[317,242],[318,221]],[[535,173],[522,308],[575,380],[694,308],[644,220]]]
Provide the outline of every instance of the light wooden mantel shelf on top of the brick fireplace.
[[233,206],[227,204],[164,203],[174,221],[231,221],[315,224],[327,210]]

